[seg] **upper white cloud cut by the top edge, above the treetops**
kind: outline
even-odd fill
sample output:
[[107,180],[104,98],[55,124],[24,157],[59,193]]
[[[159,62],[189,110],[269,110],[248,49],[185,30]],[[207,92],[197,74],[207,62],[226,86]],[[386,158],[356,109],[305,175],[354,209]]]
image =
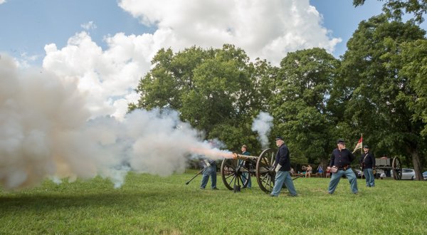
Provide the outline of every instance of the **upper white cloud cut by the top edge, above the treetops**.
[[119,5],[142,23],[157,26],[172,48],[232,43],[251,58],[278,64],[299,49],[321,47],[332,53],[341,41],[329,38],[308,0],[121,0]]

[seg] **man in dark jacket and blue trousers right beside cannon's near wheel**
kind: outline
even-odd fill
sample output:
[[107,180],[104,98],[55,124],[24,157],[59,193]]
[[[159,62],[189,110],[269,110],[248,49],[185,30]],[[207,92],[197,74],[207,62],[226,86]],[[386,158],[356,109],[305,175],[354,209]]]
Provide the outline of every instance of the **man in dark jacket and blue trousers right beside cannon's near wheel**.
[[286,188],[290,193],[289,196],[296,197],[297,191],[293,185],[292,178],[290,177],[290,157],[288,146],[285,145],[283,138],[278,136],[276,137],[276,146],[279,147],[278,153],[275,157],[275,182],[273,187],[273,192],[271,192],[271,197],[278,197],[280,190],[285,183]]

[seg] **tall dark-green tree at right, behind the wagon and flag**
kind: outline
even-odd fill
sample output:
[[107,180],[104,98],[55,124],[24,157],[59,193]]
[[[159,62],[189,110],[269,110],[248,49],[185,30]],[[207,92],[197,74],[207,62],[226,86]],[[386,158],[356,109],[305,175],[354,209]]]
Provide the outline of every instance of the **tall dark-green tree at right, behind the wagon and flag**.
[[364,142],[373,145],[376,155],[389,153],[411,161],[417,179],[426,140],[421,136],[422,122],[413,120],[408,106],[408,98],[416,93],[399,71],[404,66],[401,45],[423,39],[424,34],[411,21],[388,21],[384,15],[359,23],[347,43],[332,97],[334,116],[352,128],[350,136],[357,139],[363,132]]

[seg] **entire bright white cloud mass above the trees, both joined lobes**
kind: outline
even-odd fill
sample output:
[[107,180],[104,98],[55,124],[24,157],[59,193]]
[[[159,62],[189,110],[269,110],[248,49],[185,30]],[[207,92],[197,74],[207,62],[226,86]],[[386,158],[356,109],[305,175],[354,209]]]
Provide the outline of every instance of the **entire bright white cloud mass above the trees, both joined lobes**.
[[[105,51],[85,31],[76,33],[63,48],[45,47],[43,68],[78,83],[88,93],[93,117],[122,118],[126,104],[137,100],[133,89],[160,48],[179,51],[232,43],[252,59],[278,65],[290,51],[321,47],[332,53],[341,41],[329,37],[321,26],[322,16],[308,0],[122,0],[119,6],[157,30],[105,36]],[[93,26],[90,21],[84,27]]]

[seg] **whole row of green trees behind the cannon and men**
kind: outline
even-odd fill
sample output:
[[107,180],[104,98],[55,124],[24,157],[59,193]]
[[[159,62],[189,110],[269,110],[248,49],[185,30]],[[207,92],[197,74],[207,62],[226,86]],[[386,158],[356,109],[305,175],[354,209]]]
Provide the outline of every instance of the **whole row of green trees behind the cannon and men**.
[[[356,6],[356,1],[354,1]],[[363,2],[362,2],[363,4]],[[137,108],[174,109],[181,120],[229,150],[244,143],[260,153],[253,119],[273,116],[292,162],[325,163],[344,138],[352,150],[361,133],[376,157],[401,157],[416,170],[427,159],[427,40],[416,21],[381,14],[359,27],[339,59],[322,48],[288,53],[280,66],[251,60],[234,45],[162,48],[135,89]]]

